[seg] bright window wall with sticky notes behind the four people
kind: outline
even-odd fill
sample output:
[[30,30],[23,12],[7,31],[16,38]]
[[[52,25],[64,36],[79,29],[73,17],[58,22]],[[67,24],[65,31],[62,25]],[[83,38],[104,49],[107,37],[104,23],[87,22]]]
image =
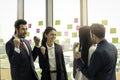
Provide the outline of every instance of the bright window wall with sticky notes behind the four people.
[[[102,23],[106,39],[118,49],[116,66],[117,80],[120,80],[120,9],[119,0],[1,0],[0,1],[0,80],[11,80],[10,66],[5,53],[5,43],[14,34],[14,21],[28,22],[27,40],[31,46],[33,36],[42,39],[46,26],[57,30],[56,43],[62,45],[68,79],[73,79],[72,46],[78,42],[78,30],[82,25]],[[40,76],[36,60],[35,67]]]

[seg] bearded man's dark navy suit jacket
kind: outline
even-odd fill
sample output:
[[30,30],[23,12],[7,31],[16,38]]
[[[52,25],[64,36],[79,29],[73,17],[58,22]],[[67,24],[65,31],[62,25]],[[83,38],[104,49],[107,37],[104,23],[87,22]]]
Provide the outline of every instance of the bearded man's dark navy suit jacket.
[[20,44],[20,53],[14,50],[14,37],[6,43],[6,53],[9,58],[12,80],[39,80],[35,72],[32,49],[27,40],[23,40],[29,49],[29,55],[22,44]]

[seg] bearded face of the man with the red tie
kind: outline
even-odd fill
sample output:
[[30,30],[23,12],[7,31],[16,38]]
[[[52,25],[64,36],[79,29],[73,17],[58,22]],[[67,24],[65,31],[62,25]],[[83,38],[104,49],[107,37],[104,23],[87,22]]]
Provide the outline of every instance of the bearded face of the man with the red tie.
[[19,29],[16,29],[16,35],[19,38],[25,38],[27,34],[27,25],[19,25]]

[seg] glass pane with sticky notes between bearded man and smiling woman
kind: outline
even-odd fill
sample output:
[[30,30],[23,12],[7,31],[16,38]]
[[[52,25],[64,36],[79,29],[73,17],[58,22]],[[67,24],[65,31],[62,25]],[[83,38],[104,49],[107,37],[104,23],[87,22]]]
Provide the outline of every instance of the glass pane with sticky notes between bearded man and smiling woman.
[[[33,37],[37,36],[42,39],[43,31],[46,28],[46,0],[24,0],[24,19],[28,22],[28,32],[26,39],[33,47]],[[41,69],[39,68],[38,59],[34,62],[36,72],[40,78]]]

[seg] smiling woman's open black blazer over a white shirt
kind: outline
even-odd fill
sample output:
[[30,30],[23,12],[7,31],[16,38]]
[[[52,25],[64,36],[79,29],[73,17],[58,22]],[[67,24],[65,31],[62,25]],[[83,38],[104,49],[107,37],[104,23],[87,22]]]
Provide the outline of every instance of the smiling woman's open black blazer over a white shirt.
[[[42,53],[38,49],[39,52],[38,55],[34,54],[33,56],[36,57],[39,56],[39,66],[42,69],[41,80],[51,80],[48,50],[47,50],[47,46],[46,45],[44,46],[46,48],[45,55],[42,55]],[[36,59],[36,57],[34,57],[34,60]],[[56,43],[55,43],[55,58],[56,58],[57,80],[68,80],[62,47]]]

